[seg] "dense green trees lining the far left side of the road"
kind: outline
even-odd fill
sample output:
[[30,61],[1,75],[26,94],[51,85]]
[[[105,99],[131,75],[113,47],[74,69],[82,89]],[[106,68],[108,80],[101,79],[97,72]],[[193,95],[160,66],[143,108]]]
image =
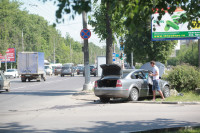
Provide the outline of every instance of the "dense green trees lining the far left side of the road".
[[[16,53],[22,52],[23,32],[24,51],[44,52],[45,59],[53,62],[55,45],[56,62],[83,63],[82,44],[74,41],[69,34],[65,38],[62,37],[60,32],[53,25],[49,25],[43,17],[21,11],[20,5],[15,1],[0,1],[0,53],[5,54],[7,48],[15,48]],[[90,45],[93,51],[98,49],[95,51],[96,56],[102,54],[100,47]],[[94,63],[94,58],[91,63]]]

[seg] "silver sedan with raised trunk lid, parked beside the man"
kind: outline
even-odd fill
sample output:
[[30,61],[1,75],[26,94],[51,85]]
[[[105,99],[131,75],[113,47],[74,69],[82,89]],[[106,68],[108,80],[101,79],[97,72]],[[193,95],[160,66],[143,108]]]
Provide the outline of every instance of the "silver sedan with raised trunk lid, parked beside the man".
[[[148,74],[150,69],[127,69],[121,70],[116,64],[101,65],[102,77],[95,81],[94,93],[101,102],[109,102],[110,98],[128,98],[137,101],[139,97],[153,95],[152,80]],[[159,67],[160,68],[160,67]],[[159,80],[159,86],[165,97],[170,96],[167,81]],[[157,95],[158,92],[156,92]]]

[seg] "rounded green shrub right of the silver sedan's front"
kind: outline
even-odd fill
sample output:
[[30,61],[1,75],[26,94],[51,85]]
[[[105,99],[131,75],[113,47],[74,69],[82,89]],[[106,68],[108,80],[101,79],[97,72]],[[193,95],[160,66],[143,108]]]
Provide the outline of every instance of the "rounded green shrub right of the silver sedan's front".
[[200,87],[200,72],[194,66],[179,65],[169,72],[167,80],[177,91],[194,91]]

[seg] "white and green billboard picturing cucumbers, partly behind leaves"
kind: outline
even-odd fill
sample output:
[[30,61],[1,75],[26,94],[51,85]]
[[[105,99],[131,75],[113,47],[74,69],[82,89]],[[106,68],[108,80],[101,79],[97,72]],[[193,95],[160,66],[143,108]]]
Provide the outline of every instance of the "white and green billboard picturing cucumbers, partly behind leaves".
[[[177,8],[172,15],[165,12],[165,15],[159,21],[160,24],[157,24],[159,14],[153,14],[151,22],[152,41],[200,38],[200,26],[188,29],[188,22],[180,23],[181,15],[185,15],[185,11],[181,8]],[[196,21],[193,23],[196,23]]]

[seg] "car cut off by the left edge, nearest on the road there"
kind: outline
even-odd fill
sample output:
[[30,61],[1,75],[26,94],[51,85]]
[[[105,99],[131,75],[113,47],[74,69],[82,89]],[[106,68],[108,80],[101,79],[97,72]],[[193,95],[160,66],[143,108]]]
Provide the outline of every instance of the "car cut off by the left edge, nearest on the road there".
[[3,91],[9,91],[10,89],[10,81],[6,79],[3,72],[0,70],[0,93]]

